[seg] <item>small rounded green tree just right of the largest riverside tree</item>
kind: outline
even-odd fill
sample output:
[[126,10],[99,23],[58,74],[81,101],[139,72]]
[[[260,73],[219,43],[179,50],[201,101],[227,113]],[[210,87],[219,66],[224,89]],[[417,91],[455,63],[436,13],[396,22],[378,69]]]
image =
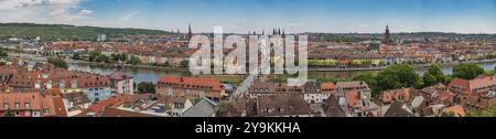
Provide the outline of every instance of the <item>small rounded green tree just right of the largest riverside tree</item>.
[[438,65],[429,66],[429,70],[423,74],[423,86],[432,86],[439,83],[444,83],[446,81],[446,76],[441,71],[441,67]]

